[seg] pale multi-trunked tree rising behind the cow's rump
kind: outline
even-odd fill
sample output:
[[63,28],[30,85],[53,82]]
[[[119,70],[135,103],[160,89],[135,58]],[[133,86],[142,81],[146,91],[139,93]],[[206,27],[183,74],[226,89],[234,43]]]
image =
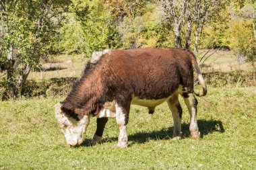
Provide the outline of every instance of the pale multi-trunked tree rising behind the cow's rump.
[[224,0],[159,0],[166,19],[173,24],[175,42],[178,48],[182,46],[181,30],[187,25],[185,35],[185,48],[189,49],[191,44],[191,33],[195,26],[194,51],[197,52],[200,35],[203,27],[212,19],[216,19],[220,10],[224,9]]

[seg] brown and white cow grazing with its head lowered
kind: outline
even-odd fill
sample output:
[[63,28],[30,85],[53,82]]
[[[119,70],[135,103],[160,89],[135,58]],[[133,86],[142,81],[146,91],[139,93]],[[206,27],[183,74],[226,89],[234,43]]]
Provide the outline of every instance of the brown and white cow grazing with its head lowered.
[[[193,65],[203,86],[200,94],[193,89]],[[83,142],[92,116],[97,117],[92,144],[100,142],[108,118],[116,118],[120,130],[117,146],[124,148],[131,104],[148,107],[152,114],[157,105],[167,101],[174,120],[173,138],[180,138],[182,108],[178,96],[181,95],[191,117],[191,136],[199,138],[195,95],[206,93],[197,60],[189,50],[103,50],[92,54],[65,101],[55,105],[55,116],[70,146]]]

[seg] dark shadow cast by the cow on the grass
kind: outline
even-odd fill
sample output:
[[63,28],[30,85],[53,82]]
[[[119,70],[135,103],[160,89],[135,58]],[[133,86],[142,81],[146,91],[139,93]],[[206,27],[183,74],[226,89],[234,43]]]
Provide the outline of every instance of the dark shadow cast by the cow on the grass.
[[[211,134],[213,132],[225,132],[222,122],[219,120],[198,120],[197,121],[199,131],[201,132],[201,138],[207,134]],[[182,124],[181,131],[183,132],[183,138],[189,137],[189,123]],[[163,128],[162,130],[158,131],[152,131],[152,132],[137,132],[135,134],[128,134],[128,140],[129,142],[133,143],[145,143],[149,140],[170,140],[173,134],[173,126],[170,128]],[[82,143],[82,146],[90,146],[90,140],[86,139]],[[105,142],[117,142],[116,138],[104,138],[101,141],[101,143]]]

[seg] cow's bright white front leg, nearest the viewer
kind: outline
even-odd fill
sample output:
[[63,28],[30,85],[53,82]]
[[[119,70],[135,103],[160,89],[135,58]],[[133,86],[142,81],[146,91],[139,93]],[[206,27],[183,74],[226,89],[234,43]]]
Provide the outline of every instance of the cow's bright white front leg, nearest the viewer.
[[126,148],[127,147],[127,130],[126,130],[126,122],[125,122],[125,112],[123,108],[117,103],[116,104],[116,120],[119,126],[119,138],[117,147]]

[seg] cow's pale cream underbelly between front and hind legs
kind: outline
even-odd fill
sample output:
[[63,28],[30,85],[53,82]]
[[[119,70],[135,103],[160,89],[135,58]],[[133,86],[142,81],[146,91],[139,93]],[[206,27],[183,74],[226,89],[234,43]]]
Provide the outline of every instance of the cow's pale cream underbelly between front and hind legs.
[[144,107],[156,107],[157,105],[164,103],[164,101],[167,101],[170,97],[171,96],[163,98],[163,99],[139,99],[138,97],[133,95],[133,97],[131,99],[131,104],[141,105]]

